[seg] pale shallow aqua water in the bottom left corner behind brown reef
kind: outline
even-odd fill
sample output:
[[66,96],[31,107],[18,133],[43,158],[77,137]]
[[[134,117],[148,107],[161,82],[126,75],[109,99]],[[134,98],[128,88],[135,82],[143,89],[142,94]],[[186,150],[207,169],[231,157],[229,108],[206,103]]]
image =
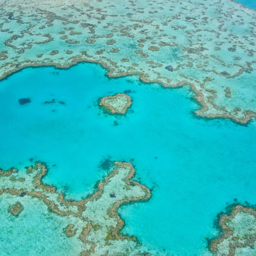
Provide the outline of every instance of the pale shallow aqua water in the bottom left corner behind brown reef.
[[[3,256],[23,255],[78,255],[77,247],[82,242],[67,238],[63,222],[56,214],[47,213],[47,206],[28,197],[18,198],[24,206],[19,217],[8,212],[12,196],[0,200],[0,249]],[[54,253],[54,254],[53,254]]]

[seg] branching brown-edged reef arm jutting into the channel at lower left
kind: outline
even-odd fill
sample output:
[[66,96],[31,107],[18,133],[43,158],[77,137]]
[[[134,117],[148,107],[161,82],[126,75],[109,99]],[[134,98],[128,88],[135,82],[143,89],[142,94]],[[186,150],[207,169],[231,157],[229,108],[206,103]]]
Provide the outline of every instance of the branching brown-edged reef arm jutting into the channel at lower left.
[[134,172],[132,164],[115,162],[91,196],[75,201],[65,199],[57,188],[42,183],[47,173],[42,163],[28,167],[26,172],[0,170],[0,198],[6,202],[19,201],[9,209],[15,218],[22,218],[22,205],[28,200],[33,205],[38,201],[47,205],[46,214],[57,214],[66,238],[75,239],[73,253],[78,252],[77,255],[149,255],[137,238],[119,233],[124,222],[117,213],[118,207],[150,197],[149,189],[133,180]]

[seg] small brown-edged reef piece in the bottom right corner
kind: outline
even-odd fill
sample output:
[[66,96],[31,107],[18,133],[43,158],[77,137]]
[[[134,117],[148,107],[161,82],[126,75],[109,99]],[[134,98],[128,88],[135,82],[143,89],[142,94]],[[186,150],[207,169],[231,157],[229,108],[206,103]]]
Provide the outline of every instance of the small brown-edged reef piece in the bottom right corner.
[[256,255],[256,211],[236,205],[219,217],[220,236],[210,241],[209,249],[218,256]]

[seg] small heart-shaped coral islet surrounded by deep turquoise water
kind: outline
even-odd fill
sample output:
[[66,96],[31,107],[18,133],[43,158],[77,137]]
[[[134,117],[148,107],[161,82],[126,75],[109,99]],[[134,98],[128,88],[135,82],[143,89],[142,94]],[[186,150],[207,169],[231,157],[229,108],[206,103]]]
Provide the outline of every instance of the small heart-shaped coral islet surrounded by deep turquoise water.
[[110,114],[126,113],[126,110],[132,105],[132,98],[124,93],[117,93],[113,96],[106,96],[100,100],[100,106]]

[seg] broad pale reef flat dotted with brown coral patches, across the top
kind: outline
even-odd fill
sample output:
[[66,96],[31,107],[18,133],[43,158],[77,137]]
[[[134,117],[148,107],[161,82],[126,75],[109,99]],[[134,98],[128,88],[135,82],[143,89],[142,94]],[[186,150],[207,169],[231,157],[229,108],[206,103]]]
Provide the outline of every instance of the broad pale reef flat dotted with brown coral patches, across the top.
[[0,79],[25,67],[101,63],[108,76],[188,85],[196,114],[256,116],[256,15],[230,0],[0,0]]

